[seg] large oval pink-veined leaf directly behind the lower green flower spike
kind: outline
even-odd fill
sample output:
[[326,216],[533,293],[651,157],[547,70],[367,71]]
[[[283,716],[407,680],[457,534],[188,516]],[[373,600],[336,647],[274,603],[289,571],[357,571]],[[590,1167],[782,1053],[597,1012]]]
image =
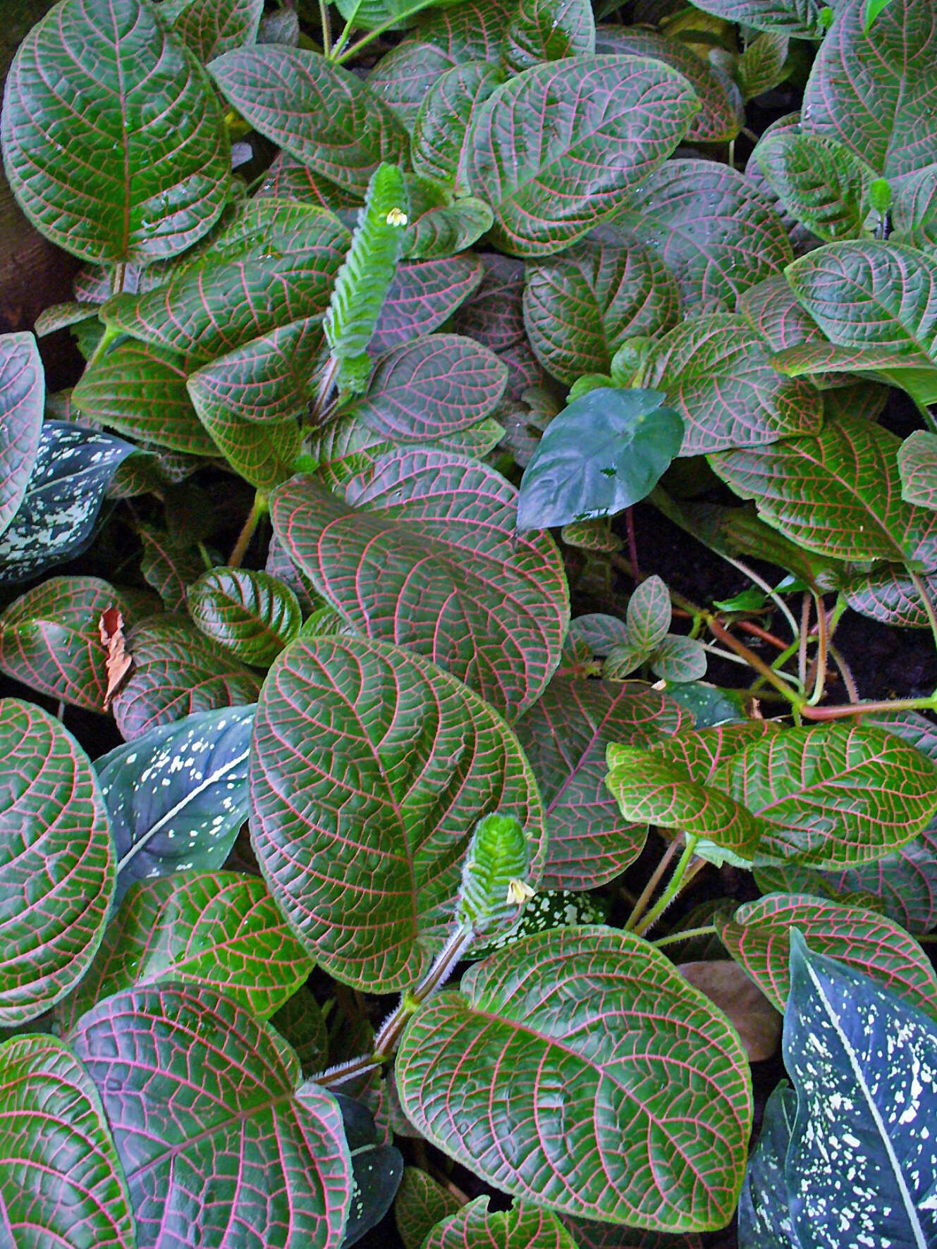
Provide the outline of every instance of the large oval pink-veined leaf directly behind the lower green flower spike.
[[254,851],[280,909],[321,967],[367,992],[409,988],[442,948],[482,816],[516,814],[532,883],[542,872],[543,813],[513,733],[396,647],[294,642],[260,697],[250,783]]

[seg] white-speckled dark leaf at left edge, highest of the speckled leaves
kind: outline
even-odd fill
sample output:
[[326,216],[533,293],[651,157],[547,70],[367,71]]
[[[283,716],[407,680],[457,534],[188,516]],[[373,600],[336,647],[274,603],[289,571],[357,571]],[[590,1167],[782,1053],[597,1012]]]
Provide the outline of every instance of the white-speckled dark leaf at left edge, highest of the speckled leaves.
[[80,555],[104,492],[135,448],[67,421],[46,421],[19,511],[0,537],[0,583],[30,581]]

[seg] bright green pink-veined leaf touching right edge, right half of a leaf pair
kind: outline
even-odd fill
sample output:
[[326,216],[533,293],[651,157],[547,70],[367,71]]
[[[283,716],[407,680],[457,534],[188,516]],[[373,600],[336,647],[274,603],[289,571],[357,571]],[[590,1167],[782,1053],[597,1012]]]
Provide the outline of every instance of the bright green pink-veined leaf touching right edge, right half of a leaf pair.
[[775,733],[713,776],[760,817],[762,856],[820,868],[868,863],[910,842],[937,811],[936,781],[920,751],[870,724]]

